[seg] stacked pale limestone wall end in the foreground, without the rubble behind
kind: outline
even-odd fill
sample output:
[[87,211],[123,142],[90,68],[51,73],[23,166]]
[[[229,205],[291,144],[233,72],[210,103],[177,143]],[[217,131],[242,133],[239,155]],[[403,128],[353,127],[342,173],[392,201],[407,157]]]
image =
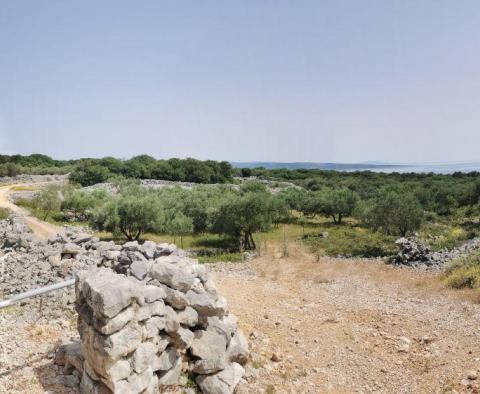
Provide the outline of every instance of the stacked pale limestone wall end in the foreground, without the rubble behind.
[[205,267],[174,245],[114,252],[102,260],[114,269],[76,277],[81,392],[156,393],[190,373],[204,393],[232,393],[248,346]]

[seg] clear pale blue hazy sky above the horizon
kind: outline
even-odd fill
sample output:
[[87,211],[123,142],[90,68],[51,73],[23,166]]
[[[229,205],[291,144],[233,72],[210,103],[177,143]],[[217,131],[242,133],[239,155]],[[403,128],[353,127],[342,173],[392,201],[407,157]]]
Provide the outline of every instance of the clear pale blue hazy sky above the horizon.
[[0,152],[480,161],[477,0],[2,1]]

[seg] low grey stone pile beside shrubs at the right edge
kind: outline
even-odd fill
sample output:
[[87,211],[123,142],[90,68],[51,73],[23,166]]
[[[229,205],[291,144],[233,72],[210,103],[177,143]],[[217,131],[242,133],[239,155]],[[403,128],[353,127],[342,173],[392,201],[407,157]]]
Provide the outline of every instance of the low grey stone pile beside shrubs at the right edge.
[[399,252],[392,262],[414,268],[441,269],[450,260],[456,259],[480,247],[480,239],[468,240],[463,245],[453,249],[443,249],[433,252],[417,238],[399,238],[395,244]]

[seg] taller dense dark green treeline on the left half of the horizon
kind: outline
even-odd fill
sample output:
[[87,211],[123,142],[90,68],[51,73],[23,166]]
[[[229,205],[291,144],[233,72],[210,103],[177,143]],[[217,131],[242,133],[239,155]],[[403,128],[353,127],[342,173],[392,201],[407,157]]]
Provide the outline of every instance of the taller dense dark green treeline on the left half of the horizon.
[[148,155],[128,160],[113,157],[102,159],[54,160],[33,154],[1,155],[0,176],[19,174],[65,174],[82,186],[106,182],[112,178],[164,179],[194,183],[227,183],[233,181],[232,166],[226,162],[196,159],[156,160]]

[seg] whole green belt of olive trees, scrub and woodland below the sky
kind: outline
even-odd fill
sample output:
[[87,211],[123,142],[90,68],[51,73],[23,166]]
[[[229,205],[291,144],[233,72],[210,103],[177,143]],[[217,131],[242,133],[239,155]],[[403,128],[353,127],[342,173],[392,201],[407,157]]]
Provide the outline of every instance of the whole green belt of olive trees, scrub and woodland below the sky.
[[[432,250],[441,250],[476,237],[480,228],[476,172],[233,169],[226,162],[146,155],[76,161],[1,156],[0,163],[0,172],[12,165],[30,173],[70,172],[68,186],[49,186],[33,200],[18,202],[44,220],[88,223],[104,237],[175,242],[196,250],[204,261],[240,261],[241,251],[285,239],[301,240],[317,256],[388,257],[400,236],[416,234]],[[144,178],[198,185],[146,189],[138,183]],[[81,188],[106,181],[116,193]],[[207,185],[212,183],[217,185]],[[272,193],[277,186],[283,188]],[[477,286],[470,278],[478,274],[477,261],[472,256],[457,262],[446,282]]]

